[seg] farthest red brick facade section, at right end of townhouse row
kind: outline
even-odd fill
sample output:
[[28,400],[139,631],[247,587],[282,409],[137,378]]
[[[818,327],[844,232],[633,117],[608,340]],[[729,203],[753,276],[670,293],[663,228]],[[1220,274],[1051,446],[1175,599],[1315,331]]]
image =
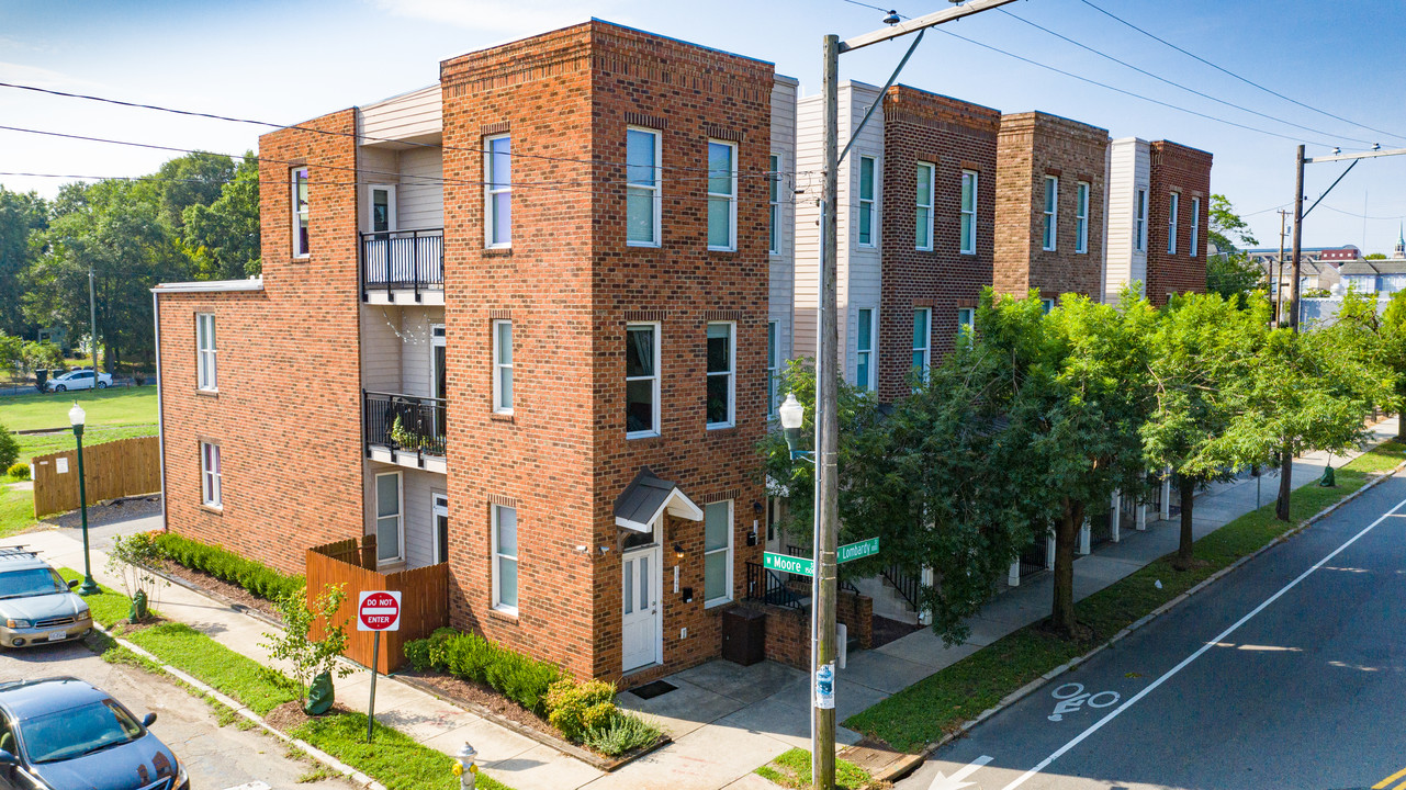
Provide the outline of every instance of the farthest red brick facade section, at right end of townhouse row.
[[[1206,232],[1211,211],[1212,155],[1168,141],[1154,141],[1152,148],[1150,188],[1147,194],[1152,222],[1147,228],[1147,299],[1167,304],[1171,294],[1206,292]],[[1171,195],[1177,201],[1177,252],[1167,252],[1171,231]],[[1191,249],[1192,205],[1197,249]],[[1191,253],[1195,252],[1195,256]]]

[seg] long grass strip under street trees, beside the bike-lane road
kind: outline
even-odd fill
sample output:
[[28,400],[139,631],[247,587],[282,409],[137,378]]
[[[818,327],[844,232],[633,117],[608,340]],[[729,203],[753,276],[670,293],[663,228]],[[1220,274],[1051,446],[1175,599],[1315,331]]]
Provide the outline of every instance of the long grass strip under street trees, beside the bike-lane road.
[[[1337,470],[1336,488],[1309,484],[1296,489],[1288,522],[1274,517],[1274,502],[1270,502],[1198,540],[1195,557],[1204,562],[1201,566],[1177,571],[1171,566],[1174,554],[1168,554],[1080,600],[1076,604],[1078,621],[1094,631],[1088,641],[1062,640],[1040,631],[1038,624],[1026,626],[851,715],[844,725],[896,749],[918,752],[957,730],[963,721],[994,707],[1007,694],[1087,654],[1222,568],[1254,554],[1299,522],[1341,502],[1362,488],[1371,474],[1389,471],[1402,460],[1406,460],[1406,444],[1381,444]],[[1159,581],[1161,589],[1157,589]]]

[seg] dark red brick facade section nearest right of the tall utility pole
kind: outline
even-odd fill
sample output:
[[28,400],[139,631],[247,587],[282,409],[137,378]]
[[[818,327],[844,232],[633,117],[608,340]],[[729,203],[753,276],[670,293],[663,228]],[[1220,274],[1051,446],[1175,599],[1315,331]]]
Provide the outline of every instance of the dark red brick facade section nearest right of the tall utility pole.
[[[995,139],[1001,114],[946,96],[894,86],[884,96],[884,163],[879,309],[879,398],[908,392],[914,311],[931,309],[931,360],[952,353],[957,309],[976,306],[991,284],[995,216]],[[917,249],[917,163],[934,176],[932,249]],[[960,252],[962,173],[977,174],[976,253]]]

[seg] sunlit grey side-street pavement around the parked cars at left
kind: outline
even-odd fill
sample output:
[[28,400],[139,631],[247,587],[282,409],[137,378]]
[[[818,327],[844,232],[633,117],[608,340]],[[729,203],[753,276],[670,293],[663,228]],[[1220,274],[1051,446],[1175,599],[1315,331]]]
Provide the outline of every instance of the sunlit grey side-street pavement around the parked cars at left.
[[79,642],[0,652],[0,680],[73,676],[108,692],[138,717],[156,713],[152,732],[190,772],[193,790],[352,790],[342,779],[299,784],[316,763],[288,759],[281,741],[233,724],[219,727],[209,706],[169,680],[115,666]]

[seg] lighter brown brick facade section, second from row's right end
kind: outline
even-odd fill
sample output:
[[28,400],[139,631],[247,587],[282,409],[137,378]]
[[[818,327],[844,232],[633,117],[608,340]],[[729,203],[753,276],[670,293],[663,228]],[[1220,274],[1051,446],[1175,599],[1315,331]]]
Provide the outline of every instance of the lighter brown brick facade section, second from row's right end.
[[[1098,297],[1104,266],[1108,131],[1045,112],[1001,117],[997,145],[997,292]],[[1045,183],[1057,179],[1054,249],[1045,246]],[[1090,186],[1088,243],[1076,252],[1078,184]]]

